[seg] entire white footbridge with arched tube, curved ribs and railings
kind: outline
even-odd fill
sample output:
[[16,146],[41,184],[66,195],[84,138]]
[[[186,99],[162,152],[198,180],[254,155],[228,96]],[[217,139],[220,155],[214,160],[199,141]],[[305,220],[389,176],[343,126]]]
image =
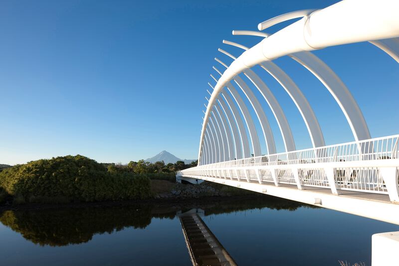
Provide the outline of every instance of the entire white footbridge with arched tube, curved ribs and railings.
[[[224,71],[213,66],[219,78],[210,75],[216,84],[208,83],[213,91],[208,91],[210,96],[206,98],[199,164],[178,172],[178,178],[207,180],[399,225],[399,135],[372,138],[350,90],[311,52],[369,42],[399,62],[398,13],[398,0],[344,0],[324,9],[299,10],[271,18],[260,23],[258,31],[233,30],[233,35],[252,35],[260,42],[246,47],[223,40],[243,52],[234,56],[218,49],[232,62],[215,58]],[[273,34],[264,31],[294,18],[299,20]],[[345,115],[355,141],[325,145],[307,98],[273,62],[282,56],[292,58],[320,80]],[[251,69],[255,65],[268,72],[295,103],[312,141],[310,149],[296,149],[284,111],[266,83]],[[256,97],[247,82],[262,97]],[[244,103],[239,90],[250,106]],[[276,153],[269,118],[260,103],[263,100],[279,126],[283,153]],[[261,134],[256,131],[255,122],[260,125]],[[261,138],[267,155],[261,153]]]

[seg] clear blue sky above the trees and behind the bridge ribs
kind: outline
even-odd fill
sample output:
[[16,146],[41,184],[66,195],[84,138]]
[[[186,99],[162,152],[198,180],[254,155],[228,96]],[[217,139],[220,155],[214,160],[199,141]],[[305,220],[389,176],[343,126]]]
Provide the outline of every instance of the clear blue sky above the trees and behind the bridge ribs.
[[[196,159],[207,82],[215,83],[209,74],[217,76],[211,67],[223,69],[213,58],[231,63],[217,48],[236,56],[242,52],[222,39],[252,46],[259,37],[232,36],[231,30],[256,30],[273,16],[334,2],[2,0],[0,163],[68,154],[127,163],[162,150]],[[370,43],[315,54],[349,87],[372,137],[399,133],[397,62]],[[275,62],[308,97],[326,143],[352,141],[323,85],[290,58]],[[297,148],[310,148],[287,93],[265,71],[254,70],[280,101]],[[277,123],[260,100],[283,151]]]

